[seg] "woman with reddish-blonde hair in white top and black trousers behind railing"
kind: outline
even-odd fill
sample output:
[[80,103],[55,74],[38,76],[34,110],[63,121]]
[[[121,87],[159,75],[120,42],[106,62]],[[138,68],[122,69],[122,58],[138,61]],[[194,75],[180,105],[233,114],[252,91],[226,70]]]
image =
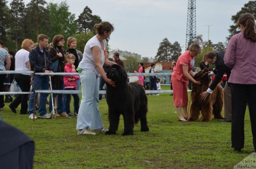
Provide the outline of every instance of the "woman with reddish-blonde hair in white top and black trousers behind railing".
[[[15,55],[15,71],[30,71],[29,51],[32,49],[34,42],[30,39],[24,39],[21,48]],[[14,79],[20,86],[22,92],[30,91],[30,74],[14,74]],[[12,112],[16,113],[16,108],[21,104],[20,114],[28,114],[28,94],[18,94],[13,102],[9,105]]]

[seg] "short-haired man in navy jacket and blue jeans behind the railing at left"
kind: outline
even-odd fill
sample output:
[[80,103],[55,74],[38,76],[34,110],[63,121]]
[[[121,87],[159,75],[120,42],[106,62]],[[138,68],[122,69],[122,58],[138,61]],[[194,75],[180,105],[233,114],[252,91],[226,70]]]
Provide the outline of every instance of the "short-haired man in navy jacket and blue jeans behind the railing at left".
[[[52,71],[52,61],[50,57],[50,53],[45,48],[48,45],[48,37],[46,35],[40,34],[37,37],[38,46],[34,47],[29,53],[29,61],[30,67],[33,71],[35,69],[36,73],[53,73]],[[36,82],[34,84],[34,79]],[[41,76],[41,75],[34,75],[32,79],[32,90],[34,89],[34,85],[36,90],[48,90],[49,89],[49,77],[48,76]],[[30,95],[29,104],[28,104],[28,113],[29,119],[33,119],[33,108],[34,104],[36,105],[36,99],[38,93],[33,93]],[[40,104],[39,104],[39,115],[41,118],[50,118],[50,114],[47,114],[46,109],[46,100],[48,94],[41,93],[40,94]],[[35,116],[35,118],[37,118]]]

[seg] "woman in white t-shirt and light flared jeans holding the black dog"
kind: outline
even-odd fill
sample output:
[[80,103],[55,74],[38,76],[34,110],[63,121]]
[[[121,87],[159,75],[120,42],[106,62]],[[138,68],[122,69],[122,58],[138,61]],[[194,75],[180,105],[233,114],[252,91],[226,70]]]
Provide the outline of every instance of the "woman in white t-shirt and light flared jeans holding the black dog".
[[[108,131],[102,124],[98,108],[99,74],[106,83],[115,86],[115,83],[107,78],[102,67],[104,64],[106,66],[116,64],[105,57],[106,39],[114,31],[114,27],[109,22],[100,22],[94,28],[97,34],[86,43],[83,59],[78,65],[78,69],[82,69],[79,73],[82,86],[82,100],[76,125],[78,135],[95,135],[96,132]],[[94,132],[90,130],[94,130]]]

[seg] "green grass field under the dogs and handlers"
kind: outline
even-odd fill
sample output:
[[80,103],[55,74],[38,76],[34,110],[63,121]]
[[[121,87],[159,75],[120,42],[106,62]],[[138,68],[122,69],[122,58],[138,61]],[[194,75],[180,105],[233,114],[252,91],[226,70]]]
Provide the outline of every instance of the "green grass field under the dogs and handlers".
[[[163,90],[170,88],[161,87]],[[137,124],[133,136],[122,136],[122,116],[117,135],[77,136],[75,117],[33,121],[28,115],[12,113],[8,105],[1,112],[2,120],[35,141],[35,169],[231,169],[254,152],[248,109],[244,149],[236,153],[231,148],[231,123],[216,119],[179,122],[173,96],[169,93],[148,95],[150,131],[140,132],[140,124]],[[100,100],[99,108],[103,124],[108,128],[106,99]]]

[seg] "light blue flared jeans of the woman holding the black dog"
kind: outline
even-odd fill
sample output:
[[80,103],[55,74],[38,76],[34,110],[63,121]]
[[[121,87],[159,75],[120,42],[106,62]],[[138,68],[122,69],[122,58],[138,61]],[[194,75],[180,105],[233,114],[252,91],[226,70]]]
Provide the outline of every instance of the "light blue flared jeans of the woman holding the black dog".
[[103,128],[99,104],[99,78],[94,73],[82,70],[79,73],[82,85],[82,100],[78,112],[77,130]]

